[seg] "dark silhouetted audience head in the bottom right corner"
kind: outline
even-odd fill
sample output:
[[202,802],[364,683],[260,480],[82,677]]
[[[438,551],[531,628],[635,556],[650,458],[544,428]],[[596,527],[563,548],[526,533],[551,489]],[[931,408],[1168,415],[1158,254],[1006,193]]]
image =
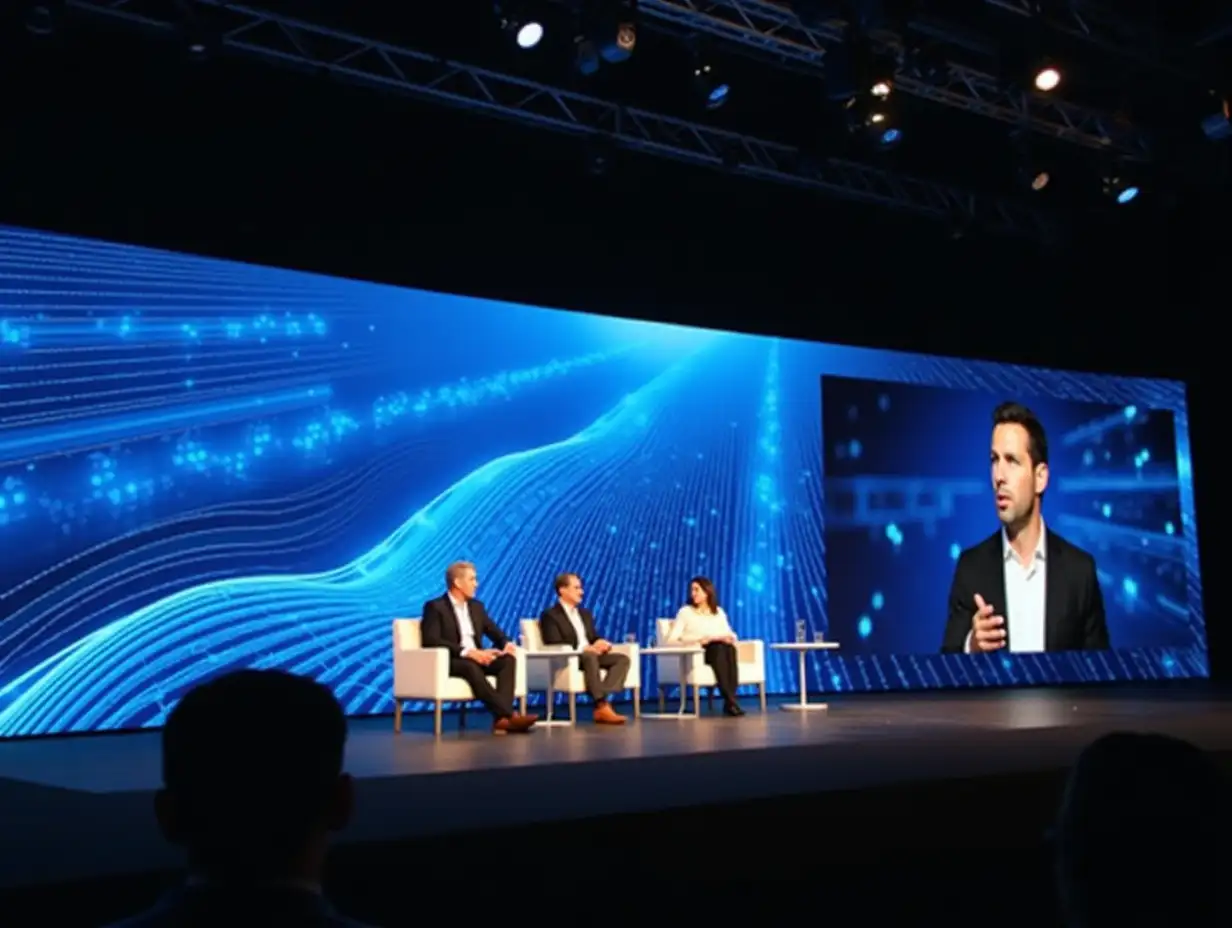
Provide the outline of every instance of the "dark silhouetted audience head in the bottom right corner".
[[1227,789],[1215,762],[1177,738],[1121,732],[1089,744],[1056,827],[1067,923],[1218,923],[1227,914]]

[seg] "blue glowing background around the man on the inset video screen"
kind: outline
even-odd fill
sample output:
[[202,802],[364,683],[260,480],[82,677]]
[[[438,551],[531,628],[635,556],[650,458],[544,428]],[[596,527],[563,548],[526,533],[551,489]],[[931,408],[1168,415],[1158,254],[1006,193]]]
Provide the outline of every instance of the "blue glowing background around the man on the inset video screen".
[[[1008,389],[995,382],[945,389],[822,378],[828,619],[837,641],[867,653],[940,647],[954,561],[998,530],[988,449],[992,410]],[[1178,523],[1189,524],[1189,488],[1180,479],[1189,474],[1188,451],[1178,451],[1184,409],[1149,389],[1129,404],[1099,402],[1099,393],[1085,389],[1031,392],[1014,396],[1048,436],[1044,518],[1095,557],[1115,649],[1002,656],[1011,673],[1002,682],[1044,683],[1071,673],[1120,679],[1147,665],[1165,677],[1201,675],[1205,633],[1190,596],[1196,568],[1188,560],[1191,545],[1174,534]],[[850,454],[855,436],[859,457]],[[883,614],[876,631],[865,633],[870,596]],[[944,683],[976,682],[970,664],[951,673]]]

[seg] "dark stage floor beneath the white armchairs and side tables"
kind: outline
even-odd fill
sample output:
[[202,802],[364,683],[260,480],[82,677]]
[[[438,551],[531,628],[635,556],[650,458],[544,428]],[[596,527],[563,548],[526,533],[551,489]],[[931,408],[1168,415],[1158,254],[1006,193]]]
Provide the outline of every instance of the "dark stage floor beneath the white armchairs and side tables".
[[[1124,728],[1232,748],[1232,702],[1190,689],[848,696],[829,712],[771,702],[744,718],[506,738],[451,717],[440,742],[429,725],[352,723],[346,840],[1055,769]],[[150,815],[158,783],[155,732],[0,743],[0,886],[175,866]]]

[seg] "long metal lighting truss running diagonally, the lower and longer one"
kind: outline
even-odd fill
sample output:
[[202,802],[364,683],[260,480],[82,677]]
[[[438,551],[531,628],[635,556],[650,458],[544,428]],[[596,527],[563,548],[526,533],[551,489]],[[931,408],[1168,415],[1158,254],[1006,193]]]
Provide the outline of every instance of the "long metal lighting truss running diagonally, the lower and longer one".
[[591,137],[680,161],[719,168],[848,200],[971,223],[993,232],[1046,235],[1039,213],[837,159],[813,163],[787,145],[559,90],[522,78],[352,36],[254,6],[221,0],[68,0],[83,12],[176,32],[186,6],[218,12],[224,48],[283,65],[307,67],[373,88]]

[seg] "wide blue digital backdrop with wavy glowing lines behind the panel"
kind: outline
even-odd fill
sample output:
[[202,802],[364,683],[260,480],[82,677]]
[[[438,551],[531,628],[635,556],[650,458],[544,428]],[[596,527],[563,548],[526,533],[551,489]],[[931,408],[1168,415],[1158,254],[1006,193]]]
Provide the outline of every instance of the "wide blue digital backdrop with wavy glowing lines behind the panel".
[[[817,690],[1206,673],[1180,383],[620,320],[20,229],[0,229],[0,737],[156,726],[186,688],[238,667],[310,674],[352,715],[388,711],[391,619],[418,615],[456,558],[477,562],[479,595],[510,632],[569,569],[609,637],[642,641],[707,574],[744,637],[790,640],[803,619],[840,640],[809,665]],[[933,441],[910,425],[915,450],[886,471],[958,489],[981,482],[993,394],[1057,417],[1062,482],[1082,479],[1073,455],[1092,445],[1071,452],[1068,434],[1142,410],[1143,446],[1175,458],[1169,471],[1152,457],[1143,479],[1170,473],[1174,490],[1057,494],[1058,530],[1116,550],[1101,563],[1108,589],[1138,584],[1132,604],[1110,595],[1114,642],[1129,649],[1004,664],[928,653],[949,547],[991,531],[987,493],[963,495],[928,545],[907,520],[901,543],[881,541],[885,526],[827,532],[823,447],[849,479],[861,471],[844,470],[834,442],[865,442],[857,461],[896,452],[877,450],[890,425],[841,415],[823,441],[823,375],[855,378],[841,389],[860,415],[882,394],[886,415],[961,409],[970,435]],[[913,401],[925,385],[975,392]],[[1136,479],[1122,451],[1093,478]],[[1084,508],[1105,498],[1110,516]],[[1131,555],[1117,526],[1145,551]],[[909,588],[898,568],[913,556],[935,572],[922,564]],[[1164,561],[1173,569],[1151,573]],[[768,670],[772,691],[796,690],[791,656],[768,652]]]

